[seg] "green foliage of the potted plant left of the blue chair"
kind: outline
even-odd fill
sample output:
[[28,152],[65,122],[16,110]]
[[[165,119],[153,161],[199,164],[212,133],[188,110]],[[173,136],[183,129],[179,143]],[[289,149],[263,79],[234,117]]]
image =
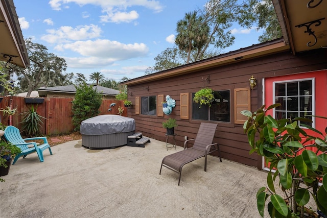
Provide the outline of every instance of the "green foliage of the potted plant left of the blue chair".
[[[1,140],[0,141],[0,167],[9,167],[7,165],[7,161],[10,158],[15,157],[20,153],[20,149],[17,146],[14,146],[10,142]],[[4,182],[5,180],[0,178],[0,182]]]

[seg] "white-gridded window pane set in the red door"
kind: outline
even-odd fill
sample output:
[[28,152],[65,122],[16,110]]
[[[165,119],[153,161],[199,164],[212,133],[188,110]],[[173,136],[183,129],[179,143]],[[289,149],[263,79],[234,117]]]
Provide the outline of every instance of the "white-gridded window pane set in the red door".
[[[275,118],[306,117],[312,119],[313,115],[313,80],[283,81],[274,83],[274,104],[281,106],[275,108]],[[312,123],[303,124],[312,126]]]

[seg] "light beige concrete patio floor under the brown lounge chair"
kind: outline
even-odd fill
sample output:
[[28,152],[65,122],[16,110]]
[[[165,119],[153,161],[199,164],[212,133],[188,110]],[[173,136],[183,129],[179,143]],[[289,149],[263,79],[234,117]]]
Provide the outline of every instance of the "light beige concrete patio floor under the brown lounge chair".
[[[166,142],[88,150],[81,140],[30,154],[0,183],[0,217],[260,217],[256,191],[267,173],[209,156],[178,174],[162,167]],[[177,147],[177,151],[182,150]],[[268,213],[265,214],[265,216]]]

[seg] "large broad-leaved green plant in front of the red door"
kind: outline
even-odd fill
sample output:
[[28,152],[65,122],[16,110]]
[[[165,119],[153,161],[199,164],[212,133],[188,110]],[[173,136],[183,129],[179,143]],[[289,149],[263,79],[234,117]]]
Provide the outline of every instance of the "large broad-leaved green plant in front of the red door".
[[[259,213],[264,217],[265,203],[270,197],[268,211],[271,217],[305,217],[305,206],[311,196],[317,208],[327,214],[327,133],[301,124],[319,135],[311,136],[299,127],[299,122],[312,122],[311,119],[277,120],[266,115],[268,110],[280,105],[271,105],[266,110],[264,105],[253,113],[241,112],[248,117],[243,128],[251,147],[250,154],[257,152],[265,158],[267,165],[270,164],[267,186],[257,193]],[[315,152],[307,148],[313,148]],[[284,197],[275,189],[277,177]]]

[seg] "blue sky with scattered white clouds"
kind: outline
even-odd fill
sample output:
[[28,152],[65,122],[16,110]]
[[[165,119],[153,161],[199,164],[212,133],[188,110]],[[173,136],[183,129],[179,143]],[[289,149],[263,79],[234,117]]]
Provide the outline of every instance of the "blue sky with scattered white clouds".
[[[120,81],[145,75],[174,46],[176,23],[206,0],[14,0],[24,38],[66,60],[66,73],[89,79],[101,72]],[[257,44],[253,29],[230,28],[235,43],[222,53]]]

